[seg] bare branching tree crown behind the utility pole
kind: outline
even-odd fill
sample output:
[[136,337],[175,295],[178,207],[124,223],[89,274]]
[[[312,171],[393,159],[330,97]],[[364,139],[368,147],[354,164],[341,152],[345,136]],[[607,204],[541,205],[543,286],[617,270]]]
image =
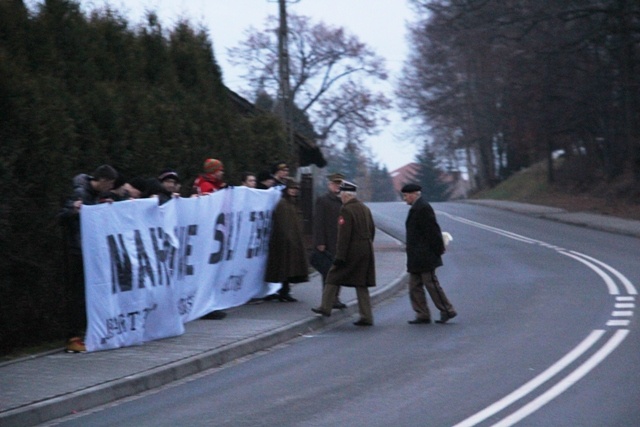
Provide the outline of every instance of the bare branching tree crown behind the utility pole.
[[[288,19],[290,94],[319,138],[360,143],[376,134],[387,122],[383,113],[391,102],[369,84],[387,79],[384,60],[342,28],[294,14]],[[249,28],[247,38],[229,49],[232,63],[247,70],[247,94],[263,91],[275,98],[280,83],[277,28],[276,17],[270,16],[263,31]]]

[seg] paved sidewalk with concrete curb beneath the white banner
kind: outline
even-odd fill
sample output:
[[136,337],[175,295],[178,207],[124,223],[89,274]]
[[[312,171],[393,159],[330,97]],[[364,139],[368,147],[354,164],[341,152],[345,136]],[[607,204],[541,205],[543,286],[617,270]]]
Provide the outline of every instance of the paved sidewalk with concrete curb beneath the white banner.
[[[374,242],[375,305],[403,288],[403,245],[378,231]],[[297,303],[268,301],[228,310],[223,320],[187,323],[178,337],[85,354],[62,349],[0,365],[0,426],[33,426],[168,384],[272,347],[328,324],[358,318],[355,291],[343,288],[345,310],[318,317],[322,279],[294,285]],[[375,311],[374,311],[375,316]],[[356,328],[356,326],[354,326]]]

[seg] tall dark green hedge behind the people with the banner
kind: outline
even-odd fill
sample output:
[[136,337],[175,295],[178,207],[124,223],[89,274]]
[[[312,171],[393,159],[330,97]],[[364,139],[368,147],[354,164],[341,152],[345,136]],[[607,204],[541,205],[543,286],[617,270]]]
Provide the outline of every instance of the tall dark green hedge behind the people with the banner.
[[233,182],[288,159],[283,141],[274,117],[231,105],[208,36],[188,22],[168,31],[150,14],[134,29],[74,1],[0,1],[0,352],[64,337],[55,217],[74,175],[173,167],[188,188],[216,157]]

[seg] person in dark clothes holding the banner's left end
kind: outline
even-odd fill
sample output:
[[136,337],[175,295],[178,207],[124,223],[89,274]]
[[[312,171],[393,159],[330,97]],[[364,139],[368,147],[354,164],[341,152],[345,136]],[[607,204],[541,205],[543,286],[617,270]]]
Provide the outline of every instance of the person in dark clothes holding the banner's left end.
[[[92,175],[80,174],[73,178],[73,192],[67,198],[58,218],[64,228],[65,281],[67,286],[68,336],[67,353],[87,351],[83,336],[87,328],[84,266],[80,239],[80,212],[82,205],[97,205],[103,194],[113,189],[118,172],[109,166],[99,166]],[[111,200],[111,199],[110,199]]]

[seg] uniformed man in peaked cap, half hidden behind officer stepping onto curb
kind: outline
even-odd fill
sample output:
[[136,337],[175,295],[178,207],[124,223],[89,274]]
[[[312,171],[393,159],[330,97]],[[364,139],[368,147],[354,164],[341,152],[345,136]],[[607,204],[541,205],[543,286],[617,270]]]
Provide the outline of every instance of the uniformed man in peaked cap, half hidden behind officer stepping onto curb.
[[[340,200],[340,184],[344,180],[341,173],[332,173],[328,177],[328,191],[316,199],[313,215],[313,246],[311,265],[322,275],[322,288],[324,289],[327,273],[336,254],[336,242],[338,241],[338,217],[342,208]],[[336,294],[336,302],[333,308],[342,309],[346,305],[340,301],[340,290]]]

